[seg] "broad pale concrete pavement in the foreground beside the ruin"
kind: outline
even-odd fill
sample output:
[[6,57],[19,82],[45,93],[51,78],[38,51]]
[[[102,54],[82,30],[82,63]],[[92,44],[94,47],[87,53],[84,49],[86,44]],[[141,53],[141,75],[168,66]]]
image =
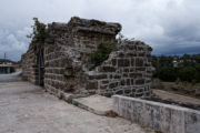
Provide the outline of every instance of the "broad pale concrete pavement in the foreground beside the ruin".
[[92,114],[28,82],[0,83],[0,133],[152,133],[120,117]]

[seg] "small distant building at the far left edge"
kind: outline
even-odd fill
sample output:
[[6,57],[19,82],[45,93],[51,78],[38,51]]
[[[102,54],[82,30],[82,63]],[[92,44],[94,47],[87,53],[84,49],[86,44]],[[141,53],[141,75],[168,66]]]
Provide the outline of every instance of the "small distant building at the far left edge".
[[13,61],[0,59],[0,74],[8,74],[13,72]]

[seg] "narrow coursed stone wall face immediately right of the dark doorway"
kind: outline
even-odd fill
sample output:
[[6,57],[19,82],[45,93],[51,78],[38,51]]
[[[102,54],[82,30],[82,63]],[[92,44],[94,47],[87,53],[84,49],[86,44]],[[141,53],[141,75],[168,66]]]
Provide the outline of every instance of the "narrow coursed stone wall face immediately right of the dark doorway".
[[49,24],[48,39],[44,44],[44,88],[52,93],[66,90],[64,70],[67,57],[66,47],[69,42],[69,31],[63,23]]

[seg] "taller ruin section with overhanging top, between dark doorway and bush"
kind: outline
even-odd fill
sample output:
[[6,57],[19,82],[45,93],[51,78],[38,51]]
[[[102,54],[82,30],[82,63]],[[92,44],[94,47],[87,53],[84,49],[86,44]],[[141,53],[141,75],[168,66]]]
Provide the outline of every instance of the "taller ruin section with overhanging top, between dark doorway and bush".
[[56,94],[86,90],[84,72],[90,66],[91,52],[102,42],[114,41],[120,29],[120,24],[79,18],[72,18],[69,23],[49,24],[44,88]]

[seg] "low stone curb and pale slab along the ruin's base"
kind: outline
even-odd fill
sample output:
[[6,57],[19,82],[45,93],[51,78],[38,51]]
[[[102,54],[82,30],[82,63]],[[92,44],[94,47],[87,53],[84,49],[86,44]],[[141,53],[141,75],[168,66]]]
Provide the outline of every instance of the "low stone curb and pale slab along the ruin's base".
[[[101,95],[88,95],[88,94],[72,94],[64,93],[63,91],[53,91],[47,89],[50,94],[58,96],[60,100],[64,100],[66,102],[84,109],[91,113],[98,115],[108,115],[112,113],[112,99],[101,96]],[[113,114],[114,115],[114,114]]]

